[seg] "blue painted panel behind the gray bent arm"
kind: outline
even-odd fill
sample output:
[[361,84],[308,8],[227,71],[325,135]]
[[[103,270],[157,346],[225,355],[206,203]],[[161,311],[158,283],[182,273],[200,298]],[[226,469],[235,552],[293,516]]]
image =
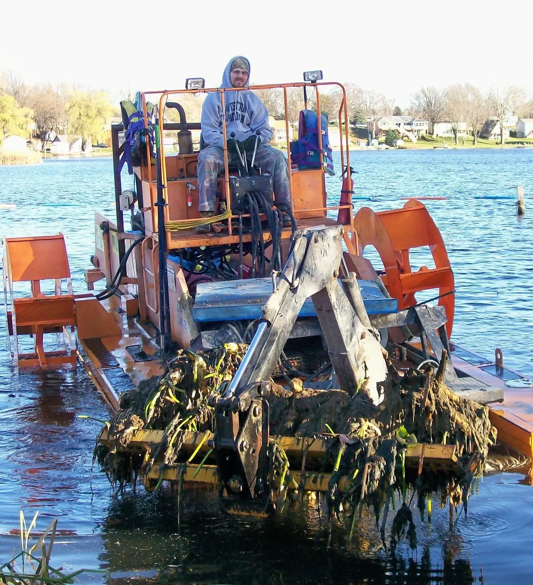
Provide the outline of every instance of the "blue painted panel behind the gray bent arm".
[[[398,311],[398,301],[395,298],[384,297],[376,283],[370,280],[357,282],[361,287],[364,306],[369,315]],[[192,318],[198,322],[257,319],[262,315],[262,305],[266,303],[271,294],[271,278],[201,283],[198,284],[196,290]],[[300,316],[317,316],[310,298],[305,301]]]

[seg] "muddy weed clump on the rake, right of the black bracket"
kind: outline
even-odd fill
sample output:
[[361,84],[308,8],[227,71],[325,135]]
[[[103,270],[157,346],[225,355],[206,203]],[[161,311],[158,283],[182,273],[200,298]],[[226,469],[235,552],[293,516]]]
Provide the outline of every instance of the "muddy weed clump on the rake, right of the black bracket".
[[[444,383],[448,357],[443,354],[439,369],[421,373],[398,372],[387,360],[388,377],[384,400],[374,406],[362,393],[350,397],[342,390],[293,391],[273,386],[270,403],[270,432],[278,436],[321,436],[328,441],[328,456],[321,470],[333,467],[326,494],[330,518],[350,512],[352,522],[363,505],[373,507],[376,525],[384,537],[387,515],[401,503],[391,528],[391,546],[407,538],[415,546],[416,535],[410,504],[416,498],[421,518],[431,514],[431,497],[451,508],[467,500],[474,477],[483,469],[496,429],[489,409],[454,394]],[[274,469],[289,485],[290,466],[273,439]],[[405,466],[405,457],[417,443],[455,445],[455,461],[442,469]],[[311,472],[312,477],[312,472]],[[301,486],[295,485],[293,488]],[[411,497],[407,498],[408,488]],[[396,503],[395,503],[396,494]]]

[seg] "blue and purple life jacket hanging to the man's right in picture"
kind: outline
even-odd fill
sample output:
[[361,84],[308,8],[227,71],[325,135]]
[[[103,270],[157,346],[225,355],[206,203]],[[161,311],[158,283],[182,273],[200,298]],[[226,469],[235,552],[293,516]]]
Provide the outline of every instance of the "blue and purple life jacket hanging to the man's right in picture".
[[[334,175],[333,157],[328,137],[328,116],[324,113],[320,119],[322,130],[322,160],[324,170]],[[320,149],[318,147],[318,115],[312,110],[300,112],[298,140],[291,142],[291,160],[298,168],[320,168]]]

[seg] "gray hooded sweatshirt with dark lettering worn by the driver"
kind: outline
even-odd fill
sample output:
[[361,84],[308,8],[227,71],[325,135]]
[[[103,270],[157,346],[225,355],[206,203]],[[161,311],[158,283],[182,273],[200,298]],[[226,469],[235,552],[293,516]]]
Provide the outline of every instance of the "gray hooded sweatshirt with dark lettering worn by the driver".
[[[229,74],[233,60],[232,57],[226,65],[222,76],[222,85],[220,87],[233,87]],[[246,59],[246,57],[241,57]],[[246,61],[248,61],[246,59]],[[250,70],[250,61],[248,61],[248,70]],[[250,76],[246,81],[246,86],[250,81]],[[226,115],[226,138],[230,139],[230,133],[235,132],[235,138],[243,142],[249,136],[255,136],[256,130],[259,130],[259,139],[262,144],[270,142],[272,139],[272,130],[269,126],[269,112],[263,102],[250,90],[225,91],[225,115]],[[223,148],[222,137],[222,106],[221,94],[212,92],[205,98],[202,106],[202,137],[204,142],[209,146],[218,146]]]

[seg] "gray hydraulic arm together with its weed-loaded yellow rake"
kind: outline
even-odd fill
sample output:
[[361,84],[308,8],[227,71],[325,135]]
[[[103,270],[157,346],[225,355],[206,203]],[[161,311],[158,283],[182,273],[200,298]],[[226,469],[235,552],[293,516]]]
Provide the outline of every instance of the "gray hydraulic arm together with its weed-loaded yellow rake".
[[[295,233],[249,346],[181,351],[166,374],[123,396],[95,450],[112,483],[134,485],[137,476],[148,489],[164,480],[214,483],[225,511],[259,516],[287,490],[324,492],[332,510],[349,505],[353,521],[363,503],[377,518],[384,505],[383,531],[394,491],[405,499],[406,464],[418,470],[421,509],[431,493],[466,500],[496,439],[488,409],[445,386],[443,347],[428,374],[393,366],[353,274],[338,278],[342,232],[339,225]],[[338,389],[306,389],[298,376],[286,389],[270,379],[308,297]],[[438,309],[425,311],[438,325]],[[391,322],[415,318],[407,309]],[[405,502],[401,510],[408,517]]]

